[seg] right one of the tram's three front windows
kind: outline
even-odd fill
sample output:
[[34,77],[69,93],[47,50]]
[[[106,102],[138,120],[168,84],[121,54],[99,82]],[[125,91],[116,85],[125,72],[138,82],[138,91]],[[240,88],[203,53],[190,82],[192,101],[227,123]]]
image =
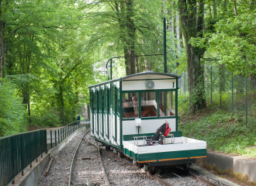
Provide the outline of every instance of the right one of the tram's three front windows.
[[160,113],[161,117],[175,115],[175,91],[160,91]]

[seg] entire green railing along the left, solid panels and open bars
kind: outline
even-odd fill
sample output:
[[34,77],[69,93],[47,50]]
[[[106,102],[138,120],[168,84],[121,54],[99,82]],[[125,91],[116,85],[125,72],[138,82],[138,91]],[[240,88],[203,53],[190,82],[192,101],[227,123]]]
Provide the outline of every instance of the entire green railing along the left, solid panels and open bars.
[[34,160],[57,146],[76,129],[90,126],[89,119],[71,122],[57,129],[40,129],[0,138],[0,185],[15,184],[15,177]]

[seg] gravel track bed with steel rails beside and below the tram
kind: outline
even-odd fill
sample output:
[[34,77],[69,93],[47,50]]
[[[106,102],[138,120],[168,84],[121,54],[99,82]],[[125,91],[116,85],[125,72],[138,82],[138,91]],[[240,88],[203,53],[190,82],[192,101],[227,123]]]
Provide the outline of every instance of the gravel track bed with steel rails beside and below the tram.
[[103,150],[88,132],[75,136],[57,154],[49,175],[42,176],[39,185],[223,185],[207,177],[202,180],[192,171],[185,175],[183,170],[164,169],[164,174],[150,175],[129,158]]

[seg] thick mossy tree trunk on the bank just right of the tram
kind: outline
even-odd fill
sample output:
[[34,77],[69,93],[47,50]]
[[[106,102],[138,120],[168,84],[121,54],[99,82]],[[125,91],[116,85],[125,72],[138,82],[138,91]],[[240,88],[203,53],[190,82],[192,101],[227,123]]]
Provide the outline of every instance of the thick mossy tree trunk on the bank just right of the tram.
[[[192,37],[202,36],[203,6],[202,0],[196,1],[179,0],[180,25],[185,37],[185,48],[188,68],[189,81],[189,112],[194,114],[196,111],[206,107],[206,98],[203,80],[203,65],[200,64],[202,49],[193,47],[189,40]],[[196,9],[197,8],[197,9]],[[196,19],[195,19],[196,18]]]

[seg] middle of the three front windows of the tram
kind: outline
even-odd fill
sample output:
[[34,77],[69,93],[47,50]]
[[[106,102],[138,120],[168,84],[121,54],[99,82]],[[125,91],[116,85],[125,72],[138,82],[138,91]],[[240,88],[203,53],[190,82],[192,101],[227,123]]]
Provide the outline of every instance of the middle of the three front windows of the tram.
[[141,92],[141,117],[157,116],[157,92]]

